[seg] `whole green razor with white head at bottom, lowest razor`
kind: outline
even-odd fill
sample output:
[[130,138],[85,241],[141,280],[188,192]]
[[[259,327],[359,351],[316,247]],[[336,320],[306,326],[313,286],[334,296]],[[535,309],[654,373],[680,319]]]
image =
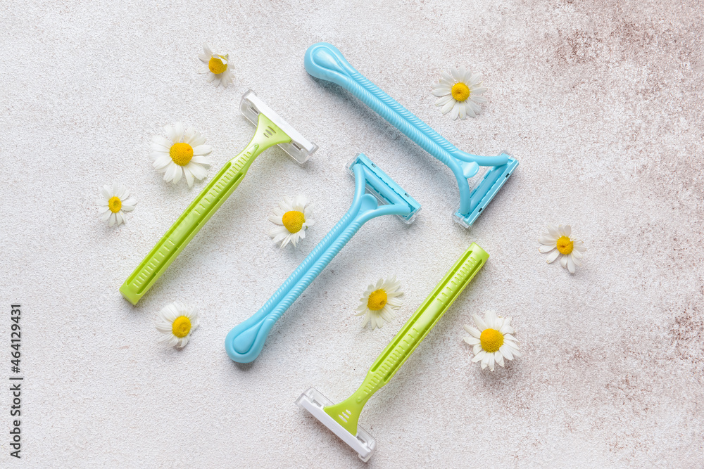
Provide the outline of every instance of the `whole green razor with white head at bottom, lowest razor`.
[[310,412],[335,435],[357,451],[362,461],[369,461],[376,448],[376,440],[357,425],[360,413],[372,394],[389,383],[415,347],[425,338],[435,323],[462,293],[489,255],[476,243],[452,266],[423,304],[408,319],[406,325],[386,346],[370,368],[358,390],[350,397],[334,404],[321,392],[310,387],[298,397],[296,404]]

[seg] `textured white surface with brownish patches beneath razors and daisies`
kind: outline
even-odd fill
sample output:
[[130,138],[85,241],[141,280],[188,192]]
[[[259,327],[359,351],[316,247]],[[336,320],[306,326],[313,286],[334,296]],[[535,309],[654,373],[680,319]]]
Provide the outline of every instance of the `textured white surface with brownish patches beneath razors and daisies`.
[[[704,410],[702,5],[698,1],[26,1],[0,6],[0,286],[23,317],[27,467],[360,467],[294,400],[311,385],[346,397],[448,266],[476,241],[491,254],[361,425],[368,467],[701,467]],[[229,51],[236,85],[196,70],[201,43]],[[329,41],[460,148],[521,165],[472,229],[451,222],[450,172],[337,86],[303,53]],[[484,73],[491,102],[453,122],[434,106],[441,70]],[[132,307],[118,287],[205,181],[171,186],[150,136],[182,120],[213,146],[215,174],[253,127],[247,88],[320,150],[281,150]],[[344,162],[363,151],[422,203],[413,226],[360,230],[285,314],[260,358],[238,366],[223,339],[346,210]],[[101,184],[138,198],[127,226],[94,207]],[[298,250],[266,216],[283,195],[316,203]],[[570,276],[537,238],[572,224],[589,251]],[[396,274],[398,319],[361,330],[360,293]],[[194,302],[182,351],[152,318]],[[462,324],[513,316],[524,358],[470,364]],[[0,377],[9,367],[0,315]],[[6,378],[2,378],[6,380]],[[6,386],[2,385],[4,389]],[[9,395],[0,393],[7,435]],[[0,465],[8,457],[0,437]]]

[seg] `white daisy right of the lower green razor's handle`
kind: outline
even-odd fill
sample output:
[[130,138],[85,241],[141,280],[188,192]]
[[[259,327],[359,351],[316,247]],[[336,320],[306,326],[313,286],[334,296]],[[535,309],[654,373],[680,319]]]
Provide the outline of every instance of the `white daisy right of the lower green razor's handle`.
[[513,327],[510,318],[504,319],[496,316],[494,311],[486,311],[484,319],[477,314],[472,314],[472,319],[479,329],[463,326],[471,334],[465,337],[465,342],[472,345],[472,362],[482,361],[482,370],[489,366],[489,369],[494,371],[494,364],[503,366],[503,359],[520,358],[518,341],[511,335]]

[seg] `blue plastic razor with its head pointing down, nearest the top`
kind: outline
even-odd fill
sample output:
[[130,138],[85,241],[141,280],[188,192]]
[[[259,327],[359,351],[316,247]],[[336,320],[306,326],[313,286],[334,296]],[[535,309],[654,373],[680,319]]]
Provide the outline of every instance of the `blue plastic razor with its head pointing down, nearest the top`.
[[[465,228],[472,226],[518,166],[508,153],[477,156],[455,147],[360,74],[332,44],[318,42],[310,46],[305,64],[310,75],[342,86],[452,170],[460,188],[460,208],[453,218]],[[484,176],[470,188],[469,180],[477,175],[480,166],[487,167]]]

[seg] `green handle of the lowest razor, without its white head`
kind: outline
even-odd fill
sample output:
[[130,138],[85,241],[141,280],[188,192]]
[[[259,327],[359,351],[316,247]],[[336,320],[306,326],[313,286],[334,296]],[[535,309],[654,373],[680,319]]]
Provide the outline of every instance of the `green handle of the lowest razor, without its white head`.
[[359,389],[339,404],[326,406],[323,409],[325,413],[351,435],[357,435],[357,422],[367,400],[382,386],[389,383],[398,368],[401,368],[413,353],[415,347],[445,314],[479,269],[482,269],[486,259],[489,259],[489,254],[476,243],[472,243],[413,316],[406,321],[394,340],[389,342],[370,368]]

